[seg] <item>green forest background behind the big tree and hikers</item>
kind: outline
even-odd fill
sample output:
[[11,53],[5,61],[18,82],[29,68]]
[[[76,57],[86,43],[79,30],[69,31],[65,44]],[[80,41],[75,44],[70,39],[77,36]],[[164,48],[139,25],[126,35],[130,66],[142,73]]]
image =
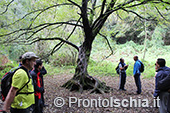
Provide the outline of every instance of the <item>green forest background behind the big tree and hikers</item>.
[[[49,55],[50,50],[58,43],[58,40],[54,41],[39,41],[31,44],[25,44],[24,41],[10,40],[12,36],[3,37],[7,31],[13,31],[18,27],[27,26],[28,20],[33,19],[31,16],[24,17],[31,9],[35,7],[46,7],[57,1],[34,1],[34,0],[16,0],[12,1],[1,0],[0,2],[0,76],[2,77],[11,68],[18,66],[18,58],[20,55],[27,51],[35,52],[40,58],[43,59],[44,65],[48,70],[48,75],[58,75],[60,73],[75,73],[76,60],[78,52],[71,46],[65,44],[54,54]],[[5,4],[5,5],[4,5]],[[9,4],[9,7],[7,5]],[[98,3],[100,4],[100,3]],[[20,10],[22,8],[22,10]],[[134,8],[132,10],[143,14],[148,18],[157,17],[159,14],[154,13],[153,9],[166,16],[170,13],[169,6],[149,6]],[[70,12],[73,12],[70,14]],[[34,23],[47,22],[48,20],[63,20],[67,15],[67,18],[74,18],[76,16],[76,10],[66,10],[64,7],[57,7],[54,11],[47,11],[45,15],[41,15]],[[153,11],[153,12],[152,12]],[[55,13],[55,15],[54,15]],[[148,14],[149,13],[149,14]],[[48,15],[47,15],[48,14]],[[115,67],[119,63],[120,58],[125,59],[125,63],[129,65],[127,69],[127,75],[132,76],[134,60],[133,56],[138,55],[139,59],[143,61],[145,65],[145,71],[142,74],[143,77],[154,77],[155,69],[154,64],[157,58],[165,58],[167,66],[170,66],[169,50],[170,50],[170,16],[165,19],[164,16],[156,18],[156,20],[141,19],[138,16],[117,11],[109,16],[104,24],[101,33],[107,38],[105,40],[102,36],[97,35],[97,38],[93,42],[93,48],[90,55],[90,61],[88,64],[88,72],[91,76],[118,76],[115,71]],[[17,20],[19,24],[15,23]],[[10,23],[13,23],[10,25]],[[66,30],[63,30],[66,29]],[[68,35],[72,27],[63,27],[55,31],[55,34]],[[49,29],[46,29],[48,31]],[[45,30],[40,32],[37,37],[46,37],[48,32]],[[78,37],[78,38],[77,38]],[[72,35],[72,42],[80,45],[83,40],[83,32],[78,29],[74,35]],[[110,47],[108,42],[110,42]],[[112,48],[112,52],[110,51]],[[112,53],[110,55],[110,53]],[[107,57],[109,56],[109,57]]]

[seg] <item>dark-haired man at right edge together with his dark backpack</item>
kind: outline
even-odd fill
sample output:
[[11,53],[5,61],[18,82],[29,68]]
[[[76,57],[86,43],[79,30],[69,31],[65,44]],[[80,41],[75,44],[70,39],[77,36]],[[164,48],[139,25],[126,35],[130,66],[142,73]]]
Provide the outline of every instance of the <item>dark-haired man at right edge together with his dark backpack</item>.
[[[168,99],[169,98],[169,74],[170,68],[165,66],[166,61],[163,58],[158,58],[155,63],[155,70],[157,72],[155,76],[155,90],[153,96],[155,98],[159,97],[159,112],[160,113],[169,113],[168,112]],[[167,81],[168,80],[168,81]]]

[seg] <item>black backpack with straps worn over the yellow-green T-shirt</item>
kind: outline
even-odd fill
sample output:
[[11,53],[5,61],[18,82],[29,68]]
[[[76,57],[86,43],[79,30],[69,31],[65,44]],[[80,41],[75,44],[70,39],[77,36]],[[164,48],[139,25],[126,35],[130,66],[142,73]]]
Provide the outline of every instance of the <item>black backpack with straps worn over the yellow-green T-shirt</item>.
[[[8,92],[9,92],[9,90],[10,90],[10,88],[11,88],[12,77],[13,77],[14,73],[15,73],[18,69],[23,69],[24,71],[27,72],[27,70],[25,70],[25,68],[19,67],[19,68],[15,69],[14,71],[9,71],[9,72],[7,72],[7,73],[2,77],[2,79],[1,79],[1,93],[0,93],[2,101],[5,101],[6,96],[8,95]],[[28,72],[27,72],[27,75],[28,75]],[[19,93],[19,91],[21,91],[21,90],[30,82],[30,77],[29,77],[29,75],[28,75],[28,78],[29,78],[28,82],[27,82],[24,86],[22,86],[21,89],[19,89],[19,90],[17,91],[17,94],[16,94],[16,95],[18,95],[18,94],[30,94],[30,93]],[[31,93],[32,93],[32,92],[31,92]]]

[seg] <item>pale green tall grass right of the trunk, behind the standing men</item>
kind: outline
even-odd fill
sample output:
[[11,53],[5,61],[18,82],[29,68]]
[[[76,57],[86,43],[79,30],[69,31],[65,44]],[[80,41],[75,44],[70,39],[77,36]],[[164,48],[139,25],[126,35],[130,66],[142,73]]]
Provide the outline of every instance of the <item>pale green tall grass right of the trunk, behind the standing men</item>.
[[[116,71],[115,68],[117,64],[119,63],[120,58],[125,59],[125,63],[129,65],[127,69],[127,75],[132,76],[133,75],[133,66],[134,66],[134,55],[138,55],[139,59],[144,63],[145,65],[145,71],[142,73],[143,77],[150,78],[155,76],[155,62],[157,58],[164,58],[166,60],[166,65],[170,67],[170,53],[169,49],[170,46],[162,46],[159,47],[152,46],[150,48],[147,48],[145,58],[143,59],[144,55],[144,46],[143,45],[137,45],[133,41],[129,41],[126,44],[117,45],[115,43],[114,46],[114,54],[111,55],[109,58],[105,59],[105,56],[109,54],[108,48],[103,46],[104,43],[101,46],[95,47],[95,49],[98,49],[100,51],[93,52],[91,59],[93,59],[93,65],[92,63],[89,63],[89,72],[93,73],[95,75],[110,75],[115,76]],[[94,44],[95,45],[95,44]]]

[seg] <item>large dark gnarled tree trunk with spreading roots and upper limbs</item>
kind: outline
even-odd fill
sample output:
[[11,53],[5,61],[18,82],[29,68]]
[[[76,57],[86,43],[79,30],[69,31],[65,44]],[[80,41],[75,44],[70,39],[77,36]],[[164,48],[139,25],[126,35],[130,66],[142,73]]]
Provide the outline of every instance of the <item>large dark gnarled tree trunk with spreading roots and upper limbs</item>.
[[[105,4],[105,0],[103,1]],[[96,2],[94,2],[95,4]],[[110,3],[110,7],[113,7],[115,2]],[[88,62],[90,58],[90,53],[92,49],[92,43],[95,39],[96,35],[99,33],[100,29],[104,25],[107,17],[110,15],[111,8],[106,10],[106,14],[103,16],[99,16],[98,19],[94,23],[91,23],[88,19],[87,14],[87,4],[88,0],[82,0],[82,7],[81,7],[81,17],[82,17],[82,24],[83,30],[85,35],[84,43],[79,47],[79,55],[77,60],[77,67],[75,70],[75,75],[72,79],[66,82],[63,87],[72,90],[79,90],[81,93],[85,89],[92,89],[92,93],[104,93],[109,92],[111,89],[110,87],[106,86],[105,83],[100,82],[96,78],[90,76],[87,72]],[[103,5],[104,7],[104,5]],[[101,11],[101,14],[103,10]],[[90,24],[91,23],[91,24]]]

